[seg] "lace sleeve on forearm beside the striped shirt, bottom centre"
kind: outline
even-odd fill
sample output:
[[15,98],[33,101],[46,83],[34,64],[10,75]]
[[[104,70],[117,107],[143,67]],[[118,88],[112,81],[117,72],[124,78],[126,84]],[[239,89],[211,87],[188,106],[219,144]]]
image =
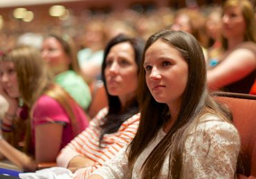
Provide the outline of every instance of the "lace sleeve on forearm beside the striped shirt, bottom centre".
[[102,167],[99,167],[92,174],[102,176],[104,179],[125,178],[125,176],[128,174],[128,158],[126,148],[127,147],[123,147],[116,157],[105,162]]

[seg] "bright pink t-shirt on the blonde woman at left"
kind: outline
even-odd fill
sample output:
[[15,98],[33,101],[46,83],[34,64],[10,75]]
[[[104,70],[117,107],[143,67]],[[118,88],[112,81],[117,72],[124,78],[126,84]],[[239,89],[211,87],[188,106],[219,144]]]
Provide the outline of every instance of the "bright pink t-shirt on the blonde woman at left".
[[[78,134],[89,125],[82,108],[76,103],[72,105],[73,113],[77,120]],[[68,117],[65,109],[54,98],[42,95],[33,107],[33,142],[35,144],[35,127],[44,123],[62,123],[64,125],[62,134],[61,149],[65,147],[75,136],[71,125],[71,119]]]

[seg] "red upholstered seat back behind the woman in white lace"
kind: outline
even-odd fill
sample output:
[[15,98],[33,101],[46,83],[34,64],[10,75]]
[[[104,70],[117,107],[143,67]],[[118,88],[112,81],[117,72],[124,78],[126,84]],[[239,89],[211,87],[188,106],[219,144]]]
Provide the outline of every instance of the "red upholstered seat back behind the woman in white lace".
[[256,96],[228,92],[217,92],[214,96],[230,108],[241,138],[240,156],[244,169],[237,169],[237,178],[256,178]]

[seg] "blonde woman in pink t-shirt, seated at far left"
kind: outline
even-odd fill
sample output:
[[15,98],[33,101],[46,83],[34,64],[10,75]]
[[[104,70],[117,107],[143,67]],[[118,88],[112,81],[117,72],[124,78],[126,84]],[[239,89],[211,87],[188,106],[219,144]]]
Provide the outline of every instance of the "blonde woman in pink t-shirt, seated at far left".
[[[35,48],[17,46],[3,54],[0,82],[0,92],[9,103],[0,131],[15,138],[8,138],[15,140],[12,140],[15,147],[20,148],[20,142],[25,145],[22,152],[0,135],[0,154],[25,171],[35,171],[37,162],[55,162],[60,149],[88,126],[82,107],[53,82],[44,59]],[[18,98],[30,112],[26,120],[16,115]],[[22,131],[26,131],[25,136]]]

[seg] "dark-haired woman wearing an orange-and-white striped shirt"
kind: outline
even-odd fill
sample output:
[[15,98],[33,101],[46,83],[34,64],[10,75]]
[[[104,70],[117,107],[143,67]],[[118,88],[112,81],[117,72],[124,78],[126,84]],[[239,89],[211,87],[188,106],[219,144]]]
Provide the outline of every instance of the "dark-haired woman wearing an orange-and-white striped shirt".
[[102,80],[109,105],[57,157],[57,165],[75,171],[75,177],[86,178],[134,138],[140,120],[136,89],[143,48],[143,41],[123,34],[107,44]]

